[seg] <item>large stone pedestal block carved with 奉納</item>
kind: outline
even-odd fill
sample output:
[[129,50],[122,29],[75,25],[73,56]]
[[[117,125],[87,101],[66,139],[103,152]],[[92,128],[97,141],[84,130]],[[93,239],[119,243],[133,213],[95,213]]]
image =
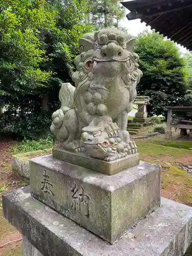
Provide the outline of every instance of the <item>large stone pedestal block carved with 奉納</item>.
[[108,176],[53,159],[30,161],[32,195],[110,243],[160,205],[160,166]]

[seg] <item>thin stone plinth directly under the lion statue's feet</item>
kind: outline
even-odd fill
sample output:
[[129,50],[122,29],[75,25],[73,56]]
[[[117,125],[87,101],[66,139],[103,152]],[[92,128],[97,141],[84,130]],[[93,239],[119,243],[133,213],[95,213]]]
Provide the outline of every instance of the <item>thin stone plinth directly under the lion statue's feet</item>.
[[53,158],[55,159],[97,170],[97,172],[108,175],[119,173],[121,170],[125,170],[139,164],[138,153],[126,156],[122,159],[106,162],[97,158],[88,157],[80,153],[69,152],[61,147],[53,148],[52,152]]

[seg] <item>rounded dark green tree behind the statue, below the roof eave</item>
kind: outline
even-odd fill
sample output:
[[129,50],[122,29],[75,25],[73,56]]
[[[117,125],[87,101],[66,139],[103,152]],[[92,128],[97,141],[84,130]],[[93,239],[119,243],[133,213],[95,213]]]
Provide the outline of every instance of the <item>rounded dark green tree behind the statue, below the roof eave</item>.
[[143,77],[137,86],[139,95],[150,96],[150,116],[164,114],[166,105],[180,105],[186,93],[184,58],[173,41],[153,31],[137,38],[135,52],[140,56]]

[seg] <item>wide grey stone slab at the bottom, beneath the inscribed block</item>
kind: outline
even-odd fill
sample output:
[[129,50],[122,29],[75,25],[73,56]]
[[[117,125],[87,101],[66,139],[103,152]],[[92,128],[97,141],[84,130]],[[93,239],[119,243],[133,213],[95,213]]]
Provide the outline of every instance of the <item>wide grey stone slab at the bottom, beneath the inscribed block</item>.
[[3,196],[4,216],[45,256],[175,256],[192,242],[192,208],[167,199],[110,245],[30,196],[29,188]]

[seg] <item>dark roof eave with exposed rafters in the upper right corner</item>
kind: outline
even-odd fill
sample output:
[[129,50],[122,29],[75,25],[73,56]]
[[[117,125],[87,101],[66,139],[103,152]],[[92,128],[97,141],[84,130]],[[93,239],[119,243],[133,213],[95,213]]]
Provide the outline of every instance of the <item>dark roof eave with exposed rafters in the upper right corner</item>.
[[192,51],[192,0],[135,0],[121,4],[131,11],[126,15],[129,20],[140,18]]

